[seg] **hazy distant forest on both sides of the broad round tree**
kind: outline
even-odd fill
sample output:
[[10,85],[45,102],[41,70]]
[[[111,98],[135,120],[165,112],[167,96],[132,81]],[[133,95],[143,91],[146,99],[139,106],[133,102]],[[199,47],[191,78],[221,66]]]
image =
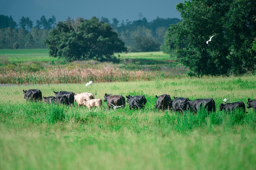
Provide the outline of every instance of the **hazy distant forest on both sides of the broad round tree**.
[[[180,21],[177,18],[159,18],[148,22],[142,20],[119,22],[116,18],[110,21],[106,17],[99,19],[108,23],[117,31],[129,52],[159,51],[164,44],[164,36],[170,24]],[[36,25],[29,17],[22,17],[16,23],[12,16],[0,15],[0,49],[3,48],[46,48],[44,40],[49,31],[56,27],[56,18],[46,18],[44,15],[36,20]]]

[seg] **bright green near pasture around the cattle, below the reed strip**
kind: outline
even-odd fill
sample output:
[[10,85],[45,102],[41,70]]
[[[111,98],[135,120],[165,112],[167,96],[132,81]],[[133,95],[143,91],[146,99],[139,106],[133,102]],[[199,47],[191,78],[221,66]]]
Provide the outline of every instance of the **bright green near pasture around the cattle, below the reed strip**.
[[[89,111],[85,107],[28,102],[23,89],[145,95],[145,109]],[[155,111],[155,95],[213,98],[216,113]],[[226,114],[231,102],[256,99],[256,76],[165,78],[152,81],[0,87],[0,169],[253,170],[256,113]]]

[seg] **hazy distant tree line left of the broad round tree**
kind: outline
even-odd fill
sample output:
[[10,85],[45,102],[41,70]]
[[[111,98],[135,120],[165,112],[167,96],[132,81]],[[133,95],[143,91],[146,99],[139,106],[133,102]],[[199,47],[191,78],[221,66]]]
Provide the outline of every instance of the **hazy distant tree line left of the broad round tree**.
[[21,17],[17,24],[12,16],[0,15],[0,48],[46,48],[43,41],[55,25],[54,16],[47,20],[43,15],[33,27],[29,17]]

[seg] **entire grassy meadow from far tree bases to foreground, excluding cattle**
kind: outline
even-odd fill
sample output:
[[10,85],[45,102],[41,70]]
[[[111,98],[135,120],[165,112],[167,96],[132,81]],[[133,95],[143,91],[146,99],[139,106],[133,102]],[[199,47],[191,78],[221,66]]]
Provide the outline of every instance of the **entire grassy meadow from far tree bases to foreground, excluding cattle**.
[[[256,113],[218,111],[256,99],[256,76],[186,77],[162,52],[117,54],[120,63],[49,57],[47,50],[0,50],[1,170],[254,170]],[[175,56],[175,55],[174,55]],[[90,86],[85,83],[92,80]],[[144,95],[142,110],[29,102],[23,89]],[[213,98],[216,112],[156,111],[155,95]],[[94,112],[95,111],[95,112]]]

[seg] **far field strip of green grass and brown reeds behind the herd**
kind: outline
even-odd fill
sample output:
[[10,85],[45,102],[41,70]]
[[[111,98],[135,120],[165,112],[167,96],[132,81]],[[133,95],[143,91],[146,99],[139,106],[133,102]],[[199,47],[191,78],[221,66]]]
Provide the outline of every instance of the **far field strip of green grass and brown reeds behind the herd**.
[[[49,57],[47,49],[0,49],[0,83],[53,84],[115,82],[184,76],[177,58],[163,52],[116,54],[120,63],[66,62]],[[173,55],[175,56],[175,55]]]

